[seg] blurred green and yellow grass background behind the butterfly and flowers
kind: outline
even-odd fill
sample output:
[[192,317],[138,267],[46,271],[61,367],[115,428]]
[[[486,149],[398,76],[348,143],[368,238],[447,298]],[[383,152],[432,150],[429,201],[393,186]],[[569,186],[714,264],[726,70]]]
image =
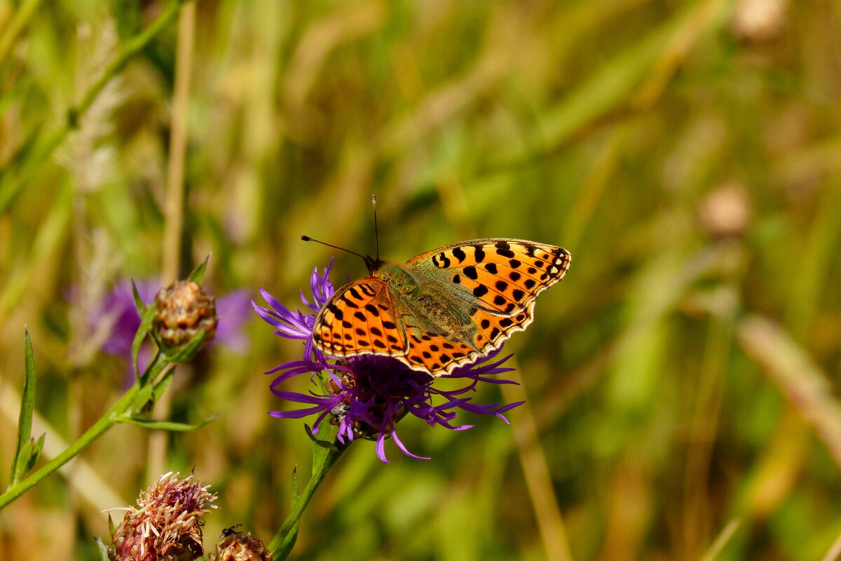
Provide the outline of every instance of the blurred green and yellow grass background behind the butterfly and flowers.
[[[96,313],[115,282],[211,253],[215,294],[297,304],[332,254],[299,236],[373,253],[376,193],[394,261],[506,236],[572,267],[505,346],[521,389],[476,398],[524,392],[511,425],[407,419],[429,462],[358,442],[294,559],[838,556],[837,2],[198,0],[86,107],[168,6],[0,1],[0,474],[24,325],[57,447],[124,389]],[[336,256],[334,283],[364,273]],[[262,371],[300,347],[244,329],[247,352],[182,368],[156,410],[219,420],[117,426],[3,511],[0,558],[93,558],[100,510],[193,467],[220,493],[207,546],[271,537],[310,442],[266,414],[284,405]]]

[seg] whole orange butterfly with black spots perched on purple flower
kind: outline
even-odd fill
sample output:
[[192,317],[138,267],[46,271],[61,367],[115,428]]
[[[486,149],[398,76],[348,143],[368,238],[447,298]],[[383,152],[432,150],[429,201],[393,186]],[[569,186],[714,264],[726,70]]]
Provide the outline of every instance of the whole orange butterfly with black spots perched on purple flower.
[[370,277],[347,283],[315,317],[329,357],[394,357],[433,377],[496,349],[532,323],[537,294],[569,268],[569,251],[484,238],[439,247],[405,264],[364,257]]

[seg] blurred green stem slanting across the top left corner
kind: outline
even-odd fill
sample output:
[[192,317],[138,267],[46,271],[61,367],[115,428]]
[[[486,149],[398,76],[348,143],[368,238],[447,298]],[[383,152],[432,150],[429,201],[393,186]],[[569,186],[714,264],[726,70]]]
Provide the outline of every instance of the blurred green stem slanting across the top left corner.
[[65,123],[62,124],[58,130],[53,131],[53,133],[48,136],[44,142],[40,143],[40,146],[35,148],[34,153],[27,158],[23,164],[21,164],[17,177],[11,179],[6,185],[0,186],[3,187],[3,190],[0,191],[0,213],[3,213],[3,210],[12,203],[24,185],[26,185],[34,173],[40,169],[41,163],[45,161],[47,157],[49,157],[50,154],[58,148],[58,146],[61,145],[61,142],[64,141],[71,130],[78,128],[79,120],[82,119],[82,116],[85,113],[87,113],[87,109],[93,105],[93,102],[96,100],[98,95],[102,93],[103,88],[108,85],[108,82],[111,82],[111,80],[119,74],[119,71],[123,70],[124,66],[131,58],[133,58],[141,50],[145,49],[145,46],[149,45],[151,40],[155,39],[161,31],[167,29],[167,27],[172,24],[172,22],[176,19],[178,12],[181,10],[182,5],[187,1],[188,0],[172,0],[172,2],[167,6],[167,9],[164,10],[164,13],[161,13],[161,16],[158,19],[156,19],[142,33],[125,44],[123,50],[119,53],[119,56],[117,56],[111,64],[105,67],[105,70],[99,79],[94,82],[93,86],[89,90],[87,90],[85,95],[82,97],[82,101],[76,106],[67,109]]

